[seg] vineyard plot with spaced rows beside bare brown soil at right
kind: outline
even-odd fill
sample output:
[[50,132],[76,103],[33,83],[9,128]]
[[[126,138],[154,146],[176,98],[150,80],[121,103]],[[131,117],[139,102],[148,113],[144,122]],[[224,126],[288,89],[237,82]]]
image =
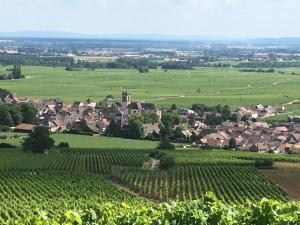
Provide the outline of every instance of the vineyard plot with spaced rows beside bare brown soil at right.
[[167,172],[122,169],[113,171],[112,177],[132,191],[160,202],[199,199],[208,191],[227,203],[263,197],[287,200],[281,188],[248,166],[178,166]]

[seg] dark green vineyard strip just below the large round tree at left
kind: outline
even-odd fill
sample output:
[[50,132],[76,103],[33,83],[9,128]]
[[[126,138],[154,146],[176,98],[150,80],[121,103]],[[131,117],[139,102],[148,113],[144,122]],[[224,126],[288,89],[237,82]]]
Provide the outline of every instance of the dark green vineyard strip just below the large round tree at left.
[[116,150],[115,152],[52,153],[48,155],[31,155],[20,152],[20,155],[22,157],[16,157],[9,152],[4,154],[9,163],[3,161],[2,168],[9,170],[79,170],[109,174],[112,165],[140,167],[146,158],[144,154],[133,154],[126,150],[124,152]]

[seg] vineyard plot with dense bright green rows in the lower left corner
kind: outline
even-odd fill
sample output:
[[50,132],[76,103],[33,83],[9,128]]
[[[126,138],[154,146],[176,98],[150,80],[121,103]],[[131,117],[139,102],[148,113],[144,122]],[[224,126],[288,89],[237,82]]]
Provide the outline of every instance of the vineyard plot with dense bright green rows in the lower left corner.
[[111,182],[83,172],[1,171],[0,189],[0,224],[25,218],[34,209],[56,217],[65,209],[95,207],[105,202],[142,202]]

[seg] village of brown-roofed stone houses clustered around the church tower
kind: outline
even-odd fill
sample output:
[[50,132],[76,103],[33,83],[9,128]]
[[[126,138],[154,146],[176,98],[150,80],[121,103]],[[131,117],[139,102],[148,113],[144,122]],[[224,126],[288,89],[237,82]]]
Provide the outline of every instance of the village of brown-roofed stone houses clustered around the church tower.
[[[80,133],[106,135],[112,120],[121,126],[128,124],[134,114],[153,113],[158,117],[156,123],[144,123],[144,137],[160,137],[160,121],[168,111],[177,113],[183,118],[180,124],[172,127],[181,132],[183,147],[228,149],[234,139],[234,149],[256,152],[300,153],[300,121],[299,117],[290,117],[289,123],[268,124],[261,118],[278,115],[284,112],[283,105],[240,107],[232,114],[236,121],[223,121],[217,125],[206,123],[207,117],[216,112],[197,113],[191,109],[158,108],[153,103],[134,101],[130,93],[123,91],[121,101],[108,95],[102,102],[91,99],[85,102],[66,104],[61,99],[33,100],[22,99],[10,94],[1,99],[6,104],[30,103],[37,108],[38,125],[49,128],[51,133]],[[19,124],[12,130],[31,132],[34,124]]]

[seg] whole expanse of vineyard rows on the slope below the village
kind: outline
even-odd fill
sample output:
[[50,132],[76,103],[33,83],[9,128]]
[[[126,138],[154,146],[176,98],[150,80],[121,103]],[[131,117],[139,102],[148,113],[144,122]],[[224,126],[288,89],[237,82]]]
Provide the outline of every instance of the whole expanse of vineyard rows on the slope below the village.
[[[61,213],[65,210],[78,212],[84,217],[81,213],[85,209],[104,207],[103,210],[108,210],[105,208],[107,202],[115,207],[111,210],[116,214],[119,213],[118,207],[124,206],[122,202],[126,202],[128,207],[143,205],[150,208],[142,207],[142,210],[156,210],[165,217],[163,213],[167,212],[160,211],[164,205],[159,205],[159,202],[175,204],[175,208],[182,204],[193,207],[195,203],[171,201],[203,199],[209,191],[224,204],[231,205],[248,204],[248,200],[257,202],[263,197],[287,202],[287,194],[256,170],[255,160],[293,163],[300,160],[298,155],[175,150],[161,151],[174,157],[176,164],[172,169],[142,169],[151,151],[74,148],[34,155],[20,149],[0,149],[0,224],[18,224],[16,219],[22,221],[33,210],[47,212],[49,221],[64,218]],[[39,215],[41,213],[35,214]],[[103,214],[98,215],[101,216]],[[98,221],[95,224],[107,223]]]

